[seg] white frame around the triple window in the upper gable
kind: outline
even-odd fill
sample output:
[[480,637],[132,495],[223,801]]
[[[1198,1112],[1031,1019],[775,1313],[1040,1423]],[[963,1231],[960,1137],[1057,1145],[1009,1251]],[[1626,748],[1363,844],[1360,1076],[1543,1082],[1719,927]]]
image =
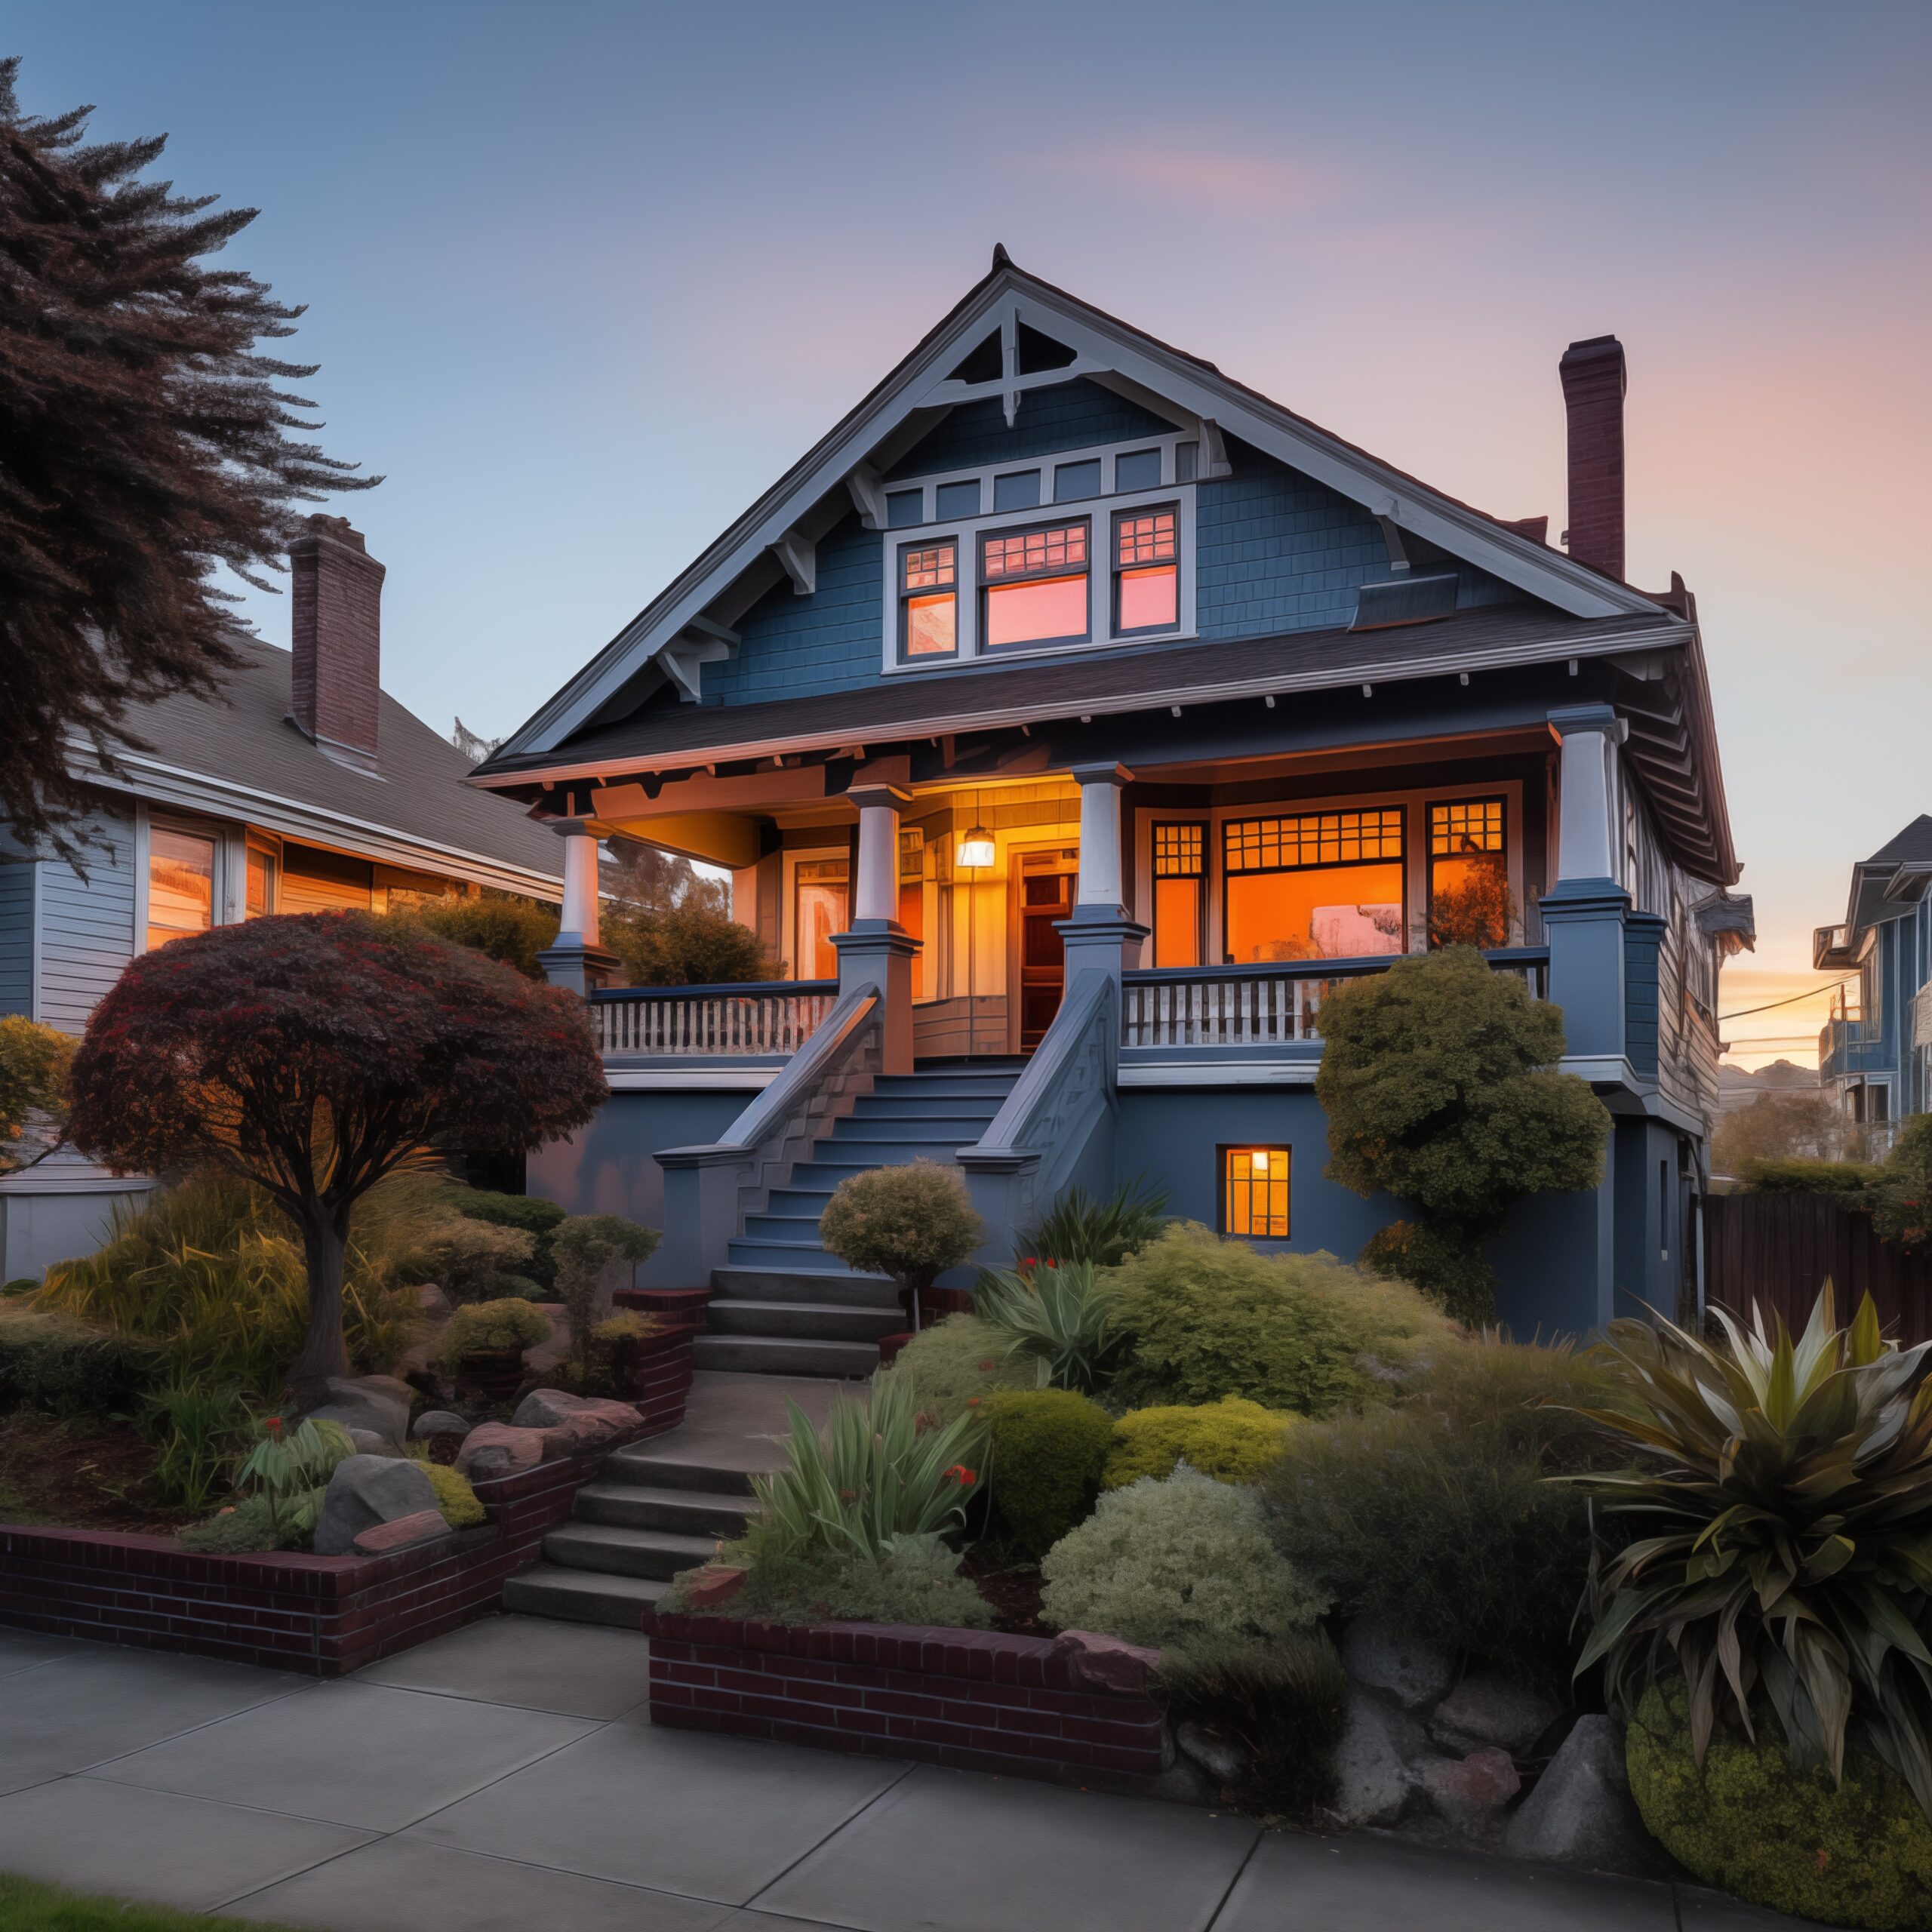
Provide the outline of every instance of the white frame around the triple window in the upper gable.
[[[1196,479],[1175,481],[1177,448],[1184,442],[1198,442],[1188,431],[1175,431],[1161,437],[1136,437],[1130,442],[1115,442],[1105,448],[1055,450],[1051,456],[1007,460],[985,464],[978,469],[943,469],[927,477],[904,483],[881,485],[885,495],[896,497],[900,491],[922,491],[922,510],[925,522],[889,526],[885,535],[885,583],[881,599],[881,663],[887,676],[929,676],[931,672],[958,670],[962,665],[1026,665],[1037,659],[1066,657],[1074,651],[1109,651],[1122,645],[1186,643],[1196,638],[1194,611],[1194,495]],[[1119,495],[1113,489],[1115,466],[1122,456],[1142,450],[1161,452],[1161,481],[1148,489]],[[1059,464],[1099,462],[1101,489],[1095,497],[1080,497],[1072,502],[1053,502],[1053,469]],[[993,477],[1012,475],[1022,469],[1037,469],[1043,502],[1026,510],[987,510],[981,516],[933,520],[937,489],[943,483],[980,483],[980,502],[993,500]],[[1132,510],[1167,508],[1175,510],[1175,539],[1179,551],[1179,622],[1171,630],[1134,630],[1126,636],[1115,632],[1113,624],[1113,545],[1115,518]],[[1078,643],[1039,643],[1007,645],[997,651],[981,649],[980,643],[980,539],[1005,535],[1007,531],[1037,529],[1043,524],[1078,522],[1090,526],[1088,537],[1088,634]],[[937,543],[954,545],[954,591],[958,624],[954,632],[956,647],[947,657],[900,657],[898,612],[900,612],[900,553],[931,549]]]

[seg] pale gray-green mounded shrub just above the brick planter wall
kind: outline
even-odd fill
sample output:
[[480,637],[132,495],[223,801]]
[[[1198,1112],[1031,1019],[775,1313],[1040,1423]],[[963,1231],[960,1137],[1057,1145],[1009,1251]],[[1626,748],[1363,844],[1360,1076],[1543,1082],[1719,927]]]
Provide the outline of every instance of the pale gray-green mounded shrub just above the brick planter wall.
[[1260,1493],[1190,1468],[1111,1490],[1039,1571],[1047,1623],[1130,1644],[1275,1642],[1327,1609],[1269,1542]]

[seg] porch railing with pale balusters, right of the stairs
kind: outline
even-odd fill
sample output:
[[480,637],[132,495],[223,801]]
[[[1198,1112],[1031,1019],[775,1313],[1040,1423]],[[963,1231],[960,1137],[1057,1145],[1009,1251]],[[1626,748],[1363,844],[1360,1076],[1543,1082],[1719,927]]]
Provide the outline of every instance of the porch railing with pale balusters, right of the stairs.
[[[1289,1047],[1318,1041],[1327,989],[1387,972],[1401,956],[1130,972],[1121,985],[1121,1045]],[[1546,947],[1509,947],[1490,952],[1488,960],[1497,972],[1519,974],[1530,999],[1544,999],[1549,983]]]

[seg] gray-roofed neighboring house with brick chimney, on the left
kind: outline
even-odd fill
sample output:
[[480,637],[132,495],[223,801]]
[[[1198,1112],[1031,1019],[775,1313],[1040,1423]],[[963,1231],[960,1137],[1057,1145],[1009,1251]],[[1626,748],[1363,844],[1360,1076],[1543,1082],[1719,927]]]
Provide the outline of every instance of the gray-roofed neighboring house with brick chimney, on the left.
[[[383,566],[342,518],[290,551],[294,651],[238,634],[222,699],[131,717],[145,750],[89,779],[73,866],[0,825],[0,1012],[79,1034],[137,954],[265,912],[390,906],[497,887],[554,900],[558,840],[464,784],[473,759],[381,688]],[[56,1150],[0,1180],[0,1279],[87,1252],[116,1180]]]

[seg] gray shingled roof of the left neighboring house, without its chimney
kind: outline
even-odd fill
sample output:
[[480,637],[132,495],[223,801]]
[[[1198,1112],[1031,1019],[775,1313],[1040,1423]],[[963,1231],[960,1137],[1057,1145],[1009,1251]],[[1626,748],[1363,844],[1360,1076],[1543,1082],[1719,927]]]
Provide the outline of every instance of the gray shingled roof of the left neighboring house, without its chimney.
[[89,748],[73,765],[99,784],[187,810],[247,819],[392,866],[435,869],[518,893],[560,887],[560,848],[508,800],[464,779],[469,759],[386,692],[377,771],[338,763],[290,721],[288,651],[245,632],[230,636],[243,663],[222,699],[162,697],[129,711],[149,750],[122,752],[124,777]]

